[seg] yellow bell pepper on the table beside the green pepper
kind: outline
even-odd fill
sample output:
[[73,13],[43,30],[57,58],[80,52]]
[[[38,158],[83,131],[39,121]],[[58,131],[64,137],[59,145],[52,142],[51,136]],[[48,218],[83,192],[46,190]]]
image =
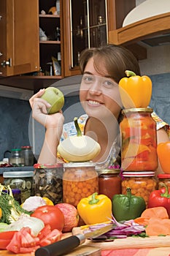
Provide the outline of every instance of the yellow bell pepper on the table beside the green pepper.
[[82,198],[77,205],[77,210],[86,225],[112,219],[112,201],[106,195],[93,193],[89,197]]

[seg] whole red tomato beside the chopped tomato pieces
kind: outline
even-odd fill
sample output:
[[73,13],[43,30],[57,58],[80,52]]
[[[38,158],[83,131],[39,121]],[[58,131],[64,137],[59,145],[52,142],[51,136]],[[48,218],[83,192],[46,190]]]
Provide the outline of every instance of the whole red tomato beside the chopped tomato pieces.
[[42,219],[45,225],[49,224],[51,230],[58,229],[63,230],[64,216],[63,212],[55,206],[40,206],[36,208],[31,217]]

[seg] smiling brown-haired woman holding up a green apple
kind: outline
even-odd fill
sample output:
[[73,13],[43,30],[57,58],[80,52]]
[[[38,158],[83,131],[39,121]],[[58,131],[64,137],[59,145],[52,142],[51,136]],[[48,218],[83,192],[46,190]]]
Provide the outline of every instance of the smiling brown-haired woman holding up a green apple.
[[[125,70],[140,75],[139,64],[126,48],[105,45],[101,48],[84,50],[80,55],[82,83],[80,102],[87,116],[84,117],[84,134],[98,141],[101,152],[93,159],[104,162],[119,134],[120,112],[123,108],[118,89],[119,80],[125,77]],[[30,99],[33,117],[46,128],[45,141],[39,156],[40,163],[56,162],[57,147],[63,132],[63,114],[47,115],[50,105],[40,99],[45,89]],[[158,143],[169,140],[166,124],[159,123]]]

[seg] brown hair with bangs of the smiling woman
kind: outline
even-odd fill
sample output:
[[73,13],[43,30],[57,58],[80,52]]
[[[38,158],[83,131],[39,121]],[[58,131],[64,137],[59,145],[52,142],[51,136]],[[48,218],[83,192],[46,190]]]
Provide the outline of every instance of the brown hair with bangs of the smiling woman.
[[130,50],[120,45],[104,45],[100,48],[89,48],[80,54],[80,70],[83,74],[85,66],[90,58],[94,59],[94,68],[96,71],[104,75],[102,67],[107,69],[109,76],[119,82],[125,77],[125,70],[131,70],[140,75],[140,68],[137,59]]

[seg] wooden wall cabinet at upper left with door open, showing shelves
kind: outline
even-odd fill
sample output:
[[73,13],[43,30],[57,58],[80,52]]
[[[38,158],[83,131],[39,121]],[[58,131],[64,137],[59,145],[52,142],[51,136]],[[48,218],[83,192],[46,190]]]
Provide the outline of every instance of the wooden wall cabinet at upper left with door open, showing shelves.
[[[61,15],[49,13],[55,6],[55,0],[0,1],[1,77],[32,75],[31,72],[41,77],[41,69],[50,78],[54,75],[54,68],[50,73],[52,56],[56,59],[58,54],[61,58],[63,55],[62,33],[59,39],[55,38],[56,28],[62,30]],[[39,27],[45,31],[47,40],[39,39]]]

